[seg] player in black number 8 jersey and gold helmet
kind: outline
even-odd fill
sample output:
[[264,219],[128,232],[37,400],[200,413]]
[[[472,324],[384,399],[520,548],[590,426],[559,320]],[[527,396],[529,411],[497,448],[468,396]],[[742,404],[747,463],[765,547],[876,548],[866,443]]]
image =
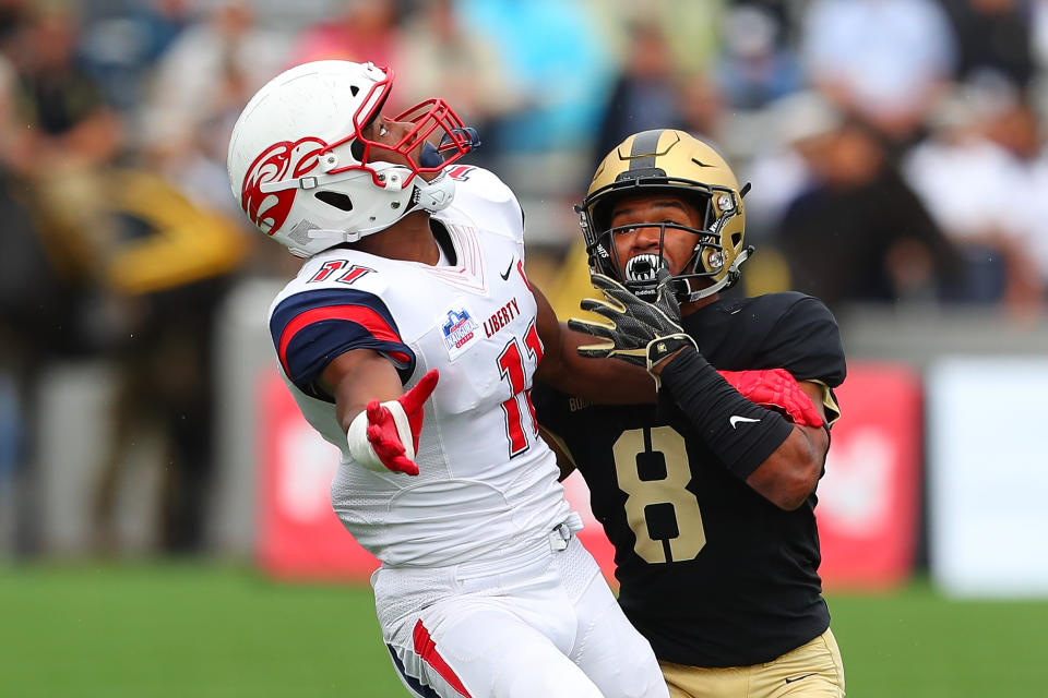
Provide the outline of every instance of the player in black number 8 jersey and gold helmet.
[[[588,356],[645,365],[657,405],[535,389],[615,545],[619,601],[674,697],[843,696],[818,568],[815,486],[845,377],[837,324],[795,292],[727,300],[752,252],[742,194],[708,145],[631,135],[580,206],[594,286],[570,324]],[[582,350],[580,350],[582,351]]]

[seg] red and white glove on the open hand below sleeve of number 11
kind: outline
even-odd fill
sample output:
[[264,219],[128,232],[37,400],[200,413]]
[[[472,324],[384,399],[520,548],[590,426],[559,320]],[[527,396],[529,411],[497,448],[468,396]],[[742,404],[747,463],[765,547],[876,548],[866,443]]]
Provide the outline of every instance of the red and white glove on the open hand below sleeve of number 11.
[[395,400],[368,402],[367,442],[374,454],[373,458],[370,454],[357,453],[358,442],[353,435],[354,428],[349,428],[350,452],[362,466],[373,470],[378,465],[374,462],[377,459],[393,472],[418,474],[415,455],[418,452],[418,437],[422,433],[422,416],[426,413],[422,406],[432,395],[439,377],[437,369],[431,369],[415,387]]

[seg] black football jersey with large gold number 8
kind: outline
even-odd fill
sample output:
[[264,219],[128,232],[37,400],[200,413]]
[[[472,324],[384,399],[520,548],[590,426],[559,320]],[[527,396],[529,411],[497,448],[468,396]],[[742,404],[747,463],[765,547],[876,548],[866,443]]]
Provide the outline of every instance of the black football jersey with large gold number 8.
[[[785,368],[823,383],[827,416],[838,416],[832,388],[844,381],[844,350],[821,301],[718,300],[683,326],[717,369]],[[676,407],[595,406],[548,386],[534,397],[615,545],[619,602],[659,659],[751,665],[829,627],[814,494],[779,509],[718,462]]]

